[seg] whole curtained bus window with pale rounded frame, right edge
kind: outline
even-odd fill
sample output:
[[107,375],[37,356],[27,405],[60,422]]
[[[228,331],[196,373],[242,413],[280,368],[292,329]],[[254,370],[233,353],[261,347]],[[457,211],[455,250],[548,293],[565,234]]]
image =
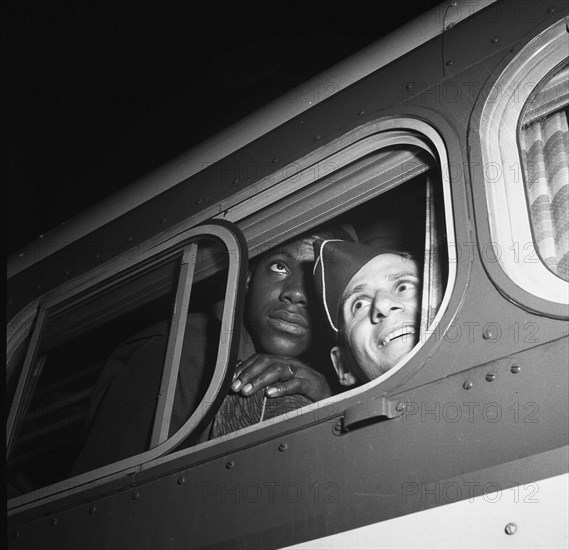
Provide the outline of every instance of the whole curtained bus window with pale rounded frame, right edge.
[[472,179],[484,182],[486,204],[478,208],[487,212],[488,228],[479,224],[477,231],[489,252],[482,254],[488,272],[517,303],[548,313],[554,307],[562,317],[569,278],[568,47],[562,20],[509,59],[480,96],[469,138]]

